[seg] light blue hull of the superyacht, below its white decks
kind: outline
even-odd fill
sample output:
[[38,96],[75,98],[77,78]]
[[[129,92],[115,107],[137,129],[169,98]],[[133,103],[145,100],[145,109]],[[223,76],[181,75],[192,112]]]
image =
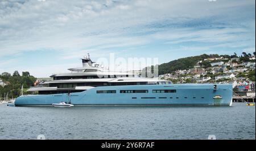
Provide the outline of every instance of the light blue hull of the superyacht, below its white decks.
[[[147,90],[147,93],[121,93],[122,90]],[[175,90],[156,93],[155,90]],[[115,93],[97,93],[115,91]],[[221,96],[221,99],[214,99]],[[120,85],[96,87],[84,92],[28,95],[15,100],[15,106],[52,106],[52,103],[70,102],[75,106],[231,106],[232,84],[166,84]]]

